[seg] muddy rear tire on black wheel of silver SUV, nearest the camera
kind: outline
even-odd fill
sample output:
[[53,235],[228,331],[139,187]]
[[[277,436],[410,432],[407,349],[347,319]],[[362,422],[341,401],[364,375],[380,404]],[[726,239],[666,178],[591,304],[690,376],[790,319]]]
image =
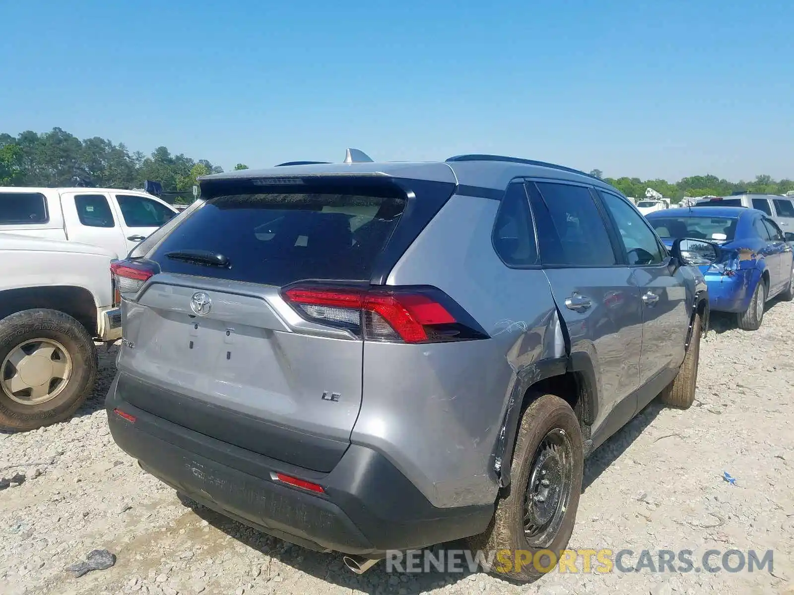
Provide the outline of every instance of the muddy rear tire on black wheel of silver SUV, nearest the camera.
[[[551,453],[549,443],[556,446],[556,455]],[[550,463],[545,468],[542,465],[544,458]],[[562,473],[557,473],[560,470]],[[583,470],[584,448],[576,414],[560,397],[552,394],[539,397],[527,407],[518,426],[511,463],[511,485],[506,488],[507,493],[502,494],[496,502],[494,517],[486,532],[469,538],[469,547],[475,551],[484,550],[486,555],[490,551],[499,553],[507,550],[510,562],[504,563],[497,557],[491,566],[491,571],[504,578],[527,582],[551,570],[549,566],[557,562],[571,538],[576,522],[576,509],[579,506]],[[550,488],[563,488],[558,497],[555,498],[549,488],[545,488],[543,493],[544,487],[540,482],[548,483],[548,480],[542,480],[543,475],[549,478],[567,478],[568,481],[565,482],[553,482]],[[549,503],[545,504],[549,507],[544,512],[547,520],[545,529],[542,521],[537,516],[534,517],[539,521],[539,527],[533,535],[525,533],[524,524],[530,478],[538,486],[535,495],[551,498],[548,502],[553,503],[551,506]],[[554,512],[549,513],[549,510]],[[549,552],[543,552],[545,550],[553,552],[554,557],[549,556]],[[523,562],[520,565],[519,552],[522,552],[520,555]],[[536,555],[543,570],[532,563]]]

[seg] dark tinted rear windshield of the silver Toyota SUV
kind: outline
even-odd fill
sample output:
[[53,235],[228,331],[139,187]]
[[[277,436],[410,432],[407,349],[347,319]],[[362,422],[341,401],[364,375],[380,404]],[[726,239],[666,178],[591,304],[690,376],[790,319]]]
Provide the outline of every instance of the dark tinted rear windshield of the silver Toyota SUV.
[[[283,286],[304,279],[365,281],[403,213],[403,198],[261,193],[212,198],[150,257],[163,272]],[[228,267],[168,253],[210,251]]]

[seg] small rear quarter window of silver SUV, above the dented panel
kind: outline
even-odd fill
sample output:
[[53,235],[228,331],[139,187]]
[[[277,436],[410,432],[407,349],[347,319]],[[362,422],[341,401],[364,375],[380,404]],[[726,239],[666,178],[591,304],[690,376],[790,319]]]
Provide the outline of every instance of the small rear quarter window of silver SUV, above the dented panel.
[[538,264],[538,246],[532,225],[530,203],[522,182],[507,186],[499,205],[493,231],[496,253],[508,267],[527,267]]

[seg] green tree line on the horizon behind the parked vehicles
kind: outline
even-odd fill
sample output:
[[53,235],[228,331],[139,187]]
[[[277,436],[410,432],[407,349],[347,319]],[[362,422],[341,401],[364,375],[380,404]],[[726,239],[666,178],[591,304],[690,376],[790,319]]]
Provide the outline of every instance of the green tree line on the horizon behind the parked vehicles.
[[[235,169],[246,169],[238,163]],[[106,188],[142,188],[146,180],[160,182],[170,193],[191,194],[196,178],[222,172],[222,167],[207,159],[193,159],[183,153],[172,155],[158,147],[151,155],[130,152],[123,143],[99,136],[79,140],[60,128],[37,133],[30,130],[17,136],[0,133],[0,186],[83,186]],[[726,196],[736,192],[785,194],[794,190],[790,179],[774,180],[757,175],[750,182],[729,182],[715,175],[694,175],[678,182],[663,179],[604,177],[600,170],[591,175],[602,178],[626,196],[645,197],[653,188],[671,202],[684,196]]]

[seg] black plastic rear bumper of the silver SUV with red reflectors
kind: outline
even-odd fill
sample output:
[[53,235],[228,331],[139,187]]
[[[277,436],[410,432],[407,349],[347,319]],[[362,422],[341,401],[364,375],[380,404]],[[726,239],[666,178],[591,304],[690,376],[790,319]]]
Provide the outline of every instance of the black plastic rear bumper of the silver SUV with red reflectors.
[[[114,440],[162,482],[210,509],[318,551],[380,557],[483,532],[493,505],[439,509],[383,455],[351,444],[330,473],[306,470],[172,424],[121,400],[106,408]],[[114,409],[136,418],[125,420]],[[272,480],[280,472],[318,494]]]

